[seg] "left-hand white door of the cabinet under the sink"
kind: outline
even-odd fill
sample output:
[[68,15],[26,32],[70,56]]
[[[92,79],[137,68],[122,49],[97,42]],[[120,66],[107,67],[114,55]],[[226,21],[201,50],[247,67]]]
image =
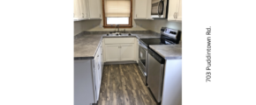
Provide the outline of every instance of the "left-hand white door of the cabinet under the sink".
[[105,45],[106,61],[119,61],[120,60],[120,45]]

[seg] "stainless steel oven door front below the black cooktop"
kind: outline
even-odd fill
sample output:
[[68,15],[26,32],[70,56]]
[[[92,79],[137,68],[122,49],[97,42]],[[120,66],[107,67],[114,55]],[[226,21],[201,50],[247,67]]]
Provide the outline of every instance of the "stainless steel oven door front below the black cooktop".
[[139,69],[142,81],[147,85],[147,45],[139,41]]

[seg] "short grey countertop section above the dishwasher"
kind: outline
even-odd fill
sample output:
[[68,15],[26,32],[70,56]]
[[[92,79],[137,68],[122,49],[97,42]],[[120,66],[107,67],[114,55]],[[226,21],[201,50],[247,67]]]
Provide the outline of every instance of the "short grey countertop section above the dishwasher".
[[149,45],[149,47],[164,59],[182,59],[181,45]]

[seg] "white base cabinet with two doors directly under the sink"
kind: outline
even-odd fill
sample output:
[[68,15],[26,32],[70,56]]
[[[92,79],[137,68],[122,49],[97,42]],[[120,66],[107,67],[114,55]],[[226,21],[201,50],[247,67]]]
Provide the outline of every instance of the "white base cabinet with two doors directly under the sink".
[[104,38],[105,61],[136,61],[136,38]]

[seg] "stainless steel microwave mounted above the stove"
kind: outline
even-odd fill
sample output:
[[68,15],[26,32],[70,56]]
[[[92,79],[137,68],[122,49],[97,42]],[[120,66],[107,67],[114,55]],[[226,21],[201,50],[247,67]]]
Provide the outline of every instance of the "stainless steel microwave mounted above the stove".
[[151,18],[168,18],[169,0],[152,0]]

